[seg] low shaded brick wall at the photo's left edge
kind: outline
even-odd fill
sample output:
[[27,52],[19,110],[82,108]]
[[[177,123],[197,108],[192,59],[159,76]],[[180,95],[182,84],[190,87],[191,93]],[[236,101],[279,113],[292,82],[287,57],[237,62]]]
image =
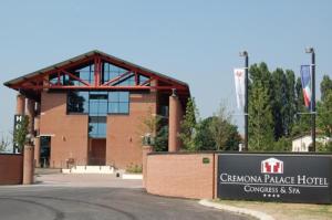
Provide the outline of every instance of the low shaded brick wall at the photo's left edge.
[[20,185],[23,178],[23,156],[0,154],[0,185]]

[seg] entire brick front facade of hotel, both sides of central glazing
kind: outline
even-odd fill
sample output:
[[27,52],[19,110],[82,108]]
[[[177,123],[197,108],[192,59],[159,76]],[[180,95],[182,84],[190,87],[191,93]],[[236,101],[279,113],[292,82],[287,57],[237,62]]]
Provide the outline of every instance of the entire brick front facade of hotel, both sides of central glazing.
[[[42,93],[40,134],[51,135],[51,167],[65,167],[66,160],[74,159],[77,165],[86,165],[92,144],[106,142],[106,165],[126,168],[142,165],[143,121],[155,114],[157,95],[132,93],[128,115],[108,115],[106,140],[89,140],[89,116],[66,114],[66,93]],[[100,147],[102,150],[102,147]],[[100,160],[98,160],[100,161]],[[97,161],[97,163],[98,163]],[[95,163],[93,163],[95,164]]]

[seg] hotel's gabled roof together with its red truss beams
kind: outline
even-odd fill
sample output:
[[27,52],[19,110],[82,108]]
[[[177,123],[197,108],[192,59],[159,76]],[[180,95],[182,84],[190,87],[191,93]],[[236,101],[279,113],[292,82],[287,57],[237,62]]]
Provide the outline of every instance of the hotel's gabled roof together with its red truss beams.
[[[70,70],[75,66],[80,66],[80,65],[82,66],[91,62],[94,62],[95,64],[94,66],[95,66],[96,78],[100,78],[98,74],[101,74],[102,63],[108,62],[116,66],[128,70],[128,73],[134,74],[135,77],[137,75],[144,75],[149,80],[148,82],[144,82],[141,84],[136,83],[135,85],[131,85],[131,86],[112,85],[112,81],[121,80],[121,77],[112,78],[111,81],[104,84],[100,83],[98,80],[96,80],[94,84],[89,84],[82,81],[81,78],[75,78],[82,82],[81,85],[62,85],[59,82],[54,84],[49,81],[49,76],[51,74],[58,74],[59,77],[61,75],[69,75],[70,77],[75,77],[75,75],[73,75]],[[122,77],[125,77],[125,75],[123,75]],[[21,93],[30,96],[38,95],[43,90],[96,90],[96,91],[157,90],[157,91],[166,91],[168,93],[170,93],[172,90],[177,90],[177,93],[179,95],[187,96],[187,97],[190,96],[190,91],[187,83],[169,77],[162,73],[152,71],[149,69],[136,65],[134,63],[124,61],[122,59],[115,57],[113,55],[106,54],[97,50],[65,60],[54,65],[50,65],[39,71],[25,74],[21,77],[13,78],[11,81],[6,82],[4,85],[10,88],[20,91]]]

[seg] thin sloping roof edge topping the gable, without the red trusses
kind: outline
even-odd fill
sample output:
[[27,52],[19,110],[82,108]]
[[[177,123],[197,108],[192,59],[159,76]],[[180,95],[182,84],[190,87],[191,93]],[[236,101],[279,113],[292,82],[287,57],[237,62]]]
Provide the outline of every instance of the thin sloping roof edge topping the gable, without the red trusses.
[[20,84],[20,83],[23,83],[24,81],[28,81],[28,80],[30,80],[30,78],[34,78],[34,77],[37,77],[37,76],[43,75],[43,74],[45,74],[45,73],[48,73],[48,72],[56,71],[56,70],[59,70],[59,69],[61,69],[61,67],[63,67],[63,66],[66,66],[66,65],[69,65],[69,64],[73,64],[73,63],[75,63],[75,62],[79,62],[79,61],[81,61],[81,60],[84,60],[84,59],[87,59],[87,57],[90,57],[90,56],[97,55],[97,54],[101,55],[101,57],[108,59],[110,61],[114,61],[114,62],[120,63],[120,64],[122,64],[122,65],[124,65],[124,66],[131,66],[132,69],[135,69],[135,70],[139,71],[139,72],[143,73],[143,74],[144,74],[144,73],[148,73],[148,75],[151,75],[151,76],[156,76],[156,77],[158,77],[158,78],[165,80],[165,82],[169,82],[169,83],[172,83],[172,84],[176,84],[176,85],[179,85],[179,86],[181,86],[181,87],[185,87],[186,90],[188,90],[188,93],[189,93],[189,86],[188,86],[188,84],[185,83],[185,82],[181,82],[181,81],[179,81],[179,80],[169,77],[169,76],[167,76],[167,75],[164,75],[164,74],[158,73],[158,72],[156,72],[156,71],[152,71],[152,70],[146,69],[146,67],[143,67],[143,66],[141,66],[141,65],[137,65],[137,64],[134,64],[134,63],[124,61],[124,60],[122,60],[122,59],[115,57],[115,56],[113,56],[113,55],[110,55],[110,54],[104,53],[104,52],[98,51],[98,50],[93,50],[93,51],[90,51],[90,52],[84,53],[84,54],[82,54],[82,55],[77,55],[77,56],[75,56],[75,57],[72,57],[72,59],[65,60],[65,61],[63,61],[63,62],[56,63],[56,64],[54,64],[54,65],[50,65],[50,66],[44,67],[44,69],[41,69],[41,70],[39,70],[39,71],[34,71],[34,72],[32,72],[32,73],[29,73],[29,74],[25,74],[25,75],[23,75],[23,76],[13,78],[13,80],[11,80],[11,81],[8,81],[8,82],[6,82],[6,83],[3,83],[3,84],[4,84],[6,86],[8,86],[8,87],[12,87],[12,88],[14,88],[14,90],[19,90],[18,87],[14,87],[14,85],[18,85],[18,84]]

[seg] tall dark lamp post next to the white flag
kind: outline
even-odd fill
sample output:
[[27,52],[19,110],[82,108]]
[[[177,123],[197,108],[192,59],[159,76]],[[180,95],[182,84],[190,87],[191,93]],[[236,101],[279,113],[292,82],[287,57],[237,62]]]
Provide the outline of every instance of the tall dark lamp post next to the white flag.
[[247,51],[239,54],[245,57],[245,150],[248,151],[248,66],[249,56]]

